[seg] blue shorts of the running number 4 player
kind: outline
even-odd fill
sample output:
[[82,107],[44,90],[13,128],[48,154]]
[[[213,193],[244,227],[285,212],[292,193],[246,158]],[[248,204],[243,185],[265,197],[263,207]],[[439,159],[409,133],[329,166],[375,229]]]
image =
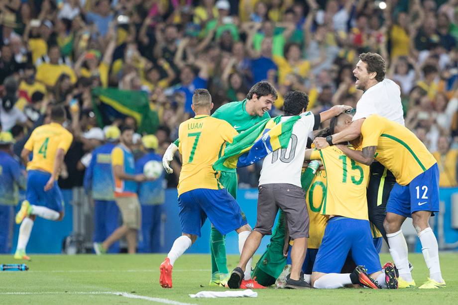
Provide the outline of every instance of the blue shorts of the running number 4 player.
[[49,178],[51,178],[50,173],[36,170],[28,171],[25,199],[30,204],[46,206],[57,212],[61,212],[64,210],[64,199],[57,185],[57,181],[54,182],[54,186],[51,190],[47,192],[44,191],[44,186]]

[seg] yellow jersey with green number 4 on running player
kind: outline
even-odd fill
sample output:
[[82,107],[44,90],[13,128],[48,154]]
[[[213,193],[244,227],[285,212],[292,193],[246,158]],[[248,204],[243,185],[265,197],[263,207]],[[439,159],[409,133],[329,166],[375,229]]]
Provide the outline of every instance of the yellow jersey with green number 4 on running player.
[[72,141],[73,135],[58,123],[37,127],[24,145],[25,149],[33,152],[27,170],[40,170],[52,174],[57,150],[62,148],[67,153]]

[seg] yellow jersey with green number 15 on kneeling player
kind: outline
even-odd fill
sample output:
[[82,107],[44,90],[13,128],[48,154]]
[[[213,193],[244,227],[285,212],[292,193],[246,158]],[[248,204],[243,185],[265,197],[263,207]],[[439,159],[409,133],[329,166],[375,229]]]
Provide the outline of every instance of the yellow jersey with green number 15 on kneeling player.
[[348,158],[335,146],[314,150],[311,159],[321,159],[326,171],[326,197],[321,213],[369,220],[366,199],[369,167]]

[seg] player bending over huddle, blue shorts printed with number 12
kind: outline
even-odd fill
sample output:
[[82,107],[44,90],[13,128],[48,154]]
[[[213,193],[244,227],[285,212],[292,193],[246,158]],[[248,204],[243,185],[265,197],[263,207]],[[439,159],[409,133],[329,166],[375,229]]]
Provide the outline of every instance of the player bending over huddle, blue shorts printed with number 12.
[[421,289],[444,288],[436,236],[429,218],[439,211],[439,168],[433,155],[409,129],[380,115],[372,114],[361,125],[362,151],[342,147],[350,158],[370,165],[377,160],[391,171],[396,184],[386,205],[384,227],[393,261],[399,271],[399,286],[415,287],[407,260],[407,243],[401,231],[406,217],[422,244],[430,271]]

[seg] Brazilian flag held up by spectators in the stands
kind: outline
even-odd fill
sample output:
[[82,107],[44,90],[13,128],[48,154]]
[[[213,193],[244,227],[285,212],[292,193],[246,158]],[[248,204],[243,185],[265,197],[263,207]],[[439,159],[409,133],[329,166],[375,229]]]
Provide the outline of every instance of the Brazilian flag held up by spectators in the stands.
[[148,96],[142,91],[98,87],[92,90],[92,104],[102,127],[126,116],[135,118],[138,133],[153,134],[159,125],[159,116],[151,110]]

